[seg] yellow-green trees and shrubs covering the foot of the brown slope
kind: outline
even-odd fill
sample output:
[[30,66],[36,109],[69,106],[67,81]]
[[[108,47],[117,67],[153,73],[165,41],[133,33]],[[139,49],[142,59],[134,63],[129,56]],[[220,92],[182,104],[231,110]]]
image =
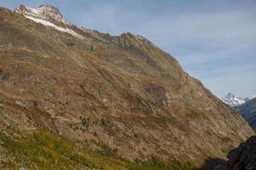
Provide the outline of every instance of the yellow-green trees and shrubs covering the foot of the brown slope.
[[[13,137],[16,136],[16,137]],[[0,133],[0,141],[8,155],[2,159],[2,167],[19,169],[131,169],[131,170],[191,170],[191,163],[177,162],[169,165],[159,158],[148,162],[131,162],[120,159],[115,151],[103,144],[95,144],[92,150],[88,144],[74,143],[54,133],[38,130],[35,133],[17,137]],[[0,165],[1,165],[0,164]],[[1,167],[1,166],[0,166]]]

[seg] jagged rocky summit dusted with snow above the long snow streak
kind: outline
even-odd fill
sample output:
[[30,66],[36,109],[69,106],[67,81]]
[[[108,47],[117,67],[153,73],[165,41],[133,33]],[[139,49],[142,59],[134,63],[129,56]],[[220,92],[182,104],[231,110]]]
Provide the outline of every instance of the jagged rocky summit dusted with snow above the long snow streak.
[[51,22],[61,22],[70,25],[70,23],[64,19],[59,8],[56,8],[53,5],[40,5],[38,8],[31,8],[21,4],[18,8],[15,8],[15,13],[22,14],[26,17],[33,17]]

